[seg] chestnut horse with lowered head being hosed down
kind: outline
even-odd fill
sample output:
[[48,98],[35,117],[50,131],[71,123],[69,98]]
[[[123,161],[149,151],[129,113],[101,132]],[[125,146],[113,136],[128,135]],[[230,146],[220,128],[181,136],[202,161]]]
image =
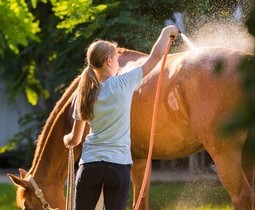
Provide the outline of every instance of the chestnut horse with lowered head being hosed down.
[[[243,92],[237,72],[245,52],[222,47],[206,47],[168,55],[160,92],[153,159],[186,157],[205,149],[213,159],[219,179],[229,193],[235,210],[252,210],[253,164],[242,167],[246,130],[220,135],[218,129],[242,102]],[[146,54],[123,49],[120,66],[132,66]],[[126,65],[127,64],[127,65]],[[150,139],[152,110],[161,62],[134,93],[131,112],[133,203],[141,187]],[[72,127],[73,98],[77,77],[57,102],[41,135],[31,169],[20,177],[9,174],[17,190],[17,204],[23,209],[42,209],[29,177],[33,177],[51,208],[64,210],[64,185],[68,151],[63,136]],[[88,128],[84,132],[87,134]],[[75,159],[81,145],[75,148]],[[247,161],[248,162],[248,161]],[[140,209],[147,210],[149,180]]]

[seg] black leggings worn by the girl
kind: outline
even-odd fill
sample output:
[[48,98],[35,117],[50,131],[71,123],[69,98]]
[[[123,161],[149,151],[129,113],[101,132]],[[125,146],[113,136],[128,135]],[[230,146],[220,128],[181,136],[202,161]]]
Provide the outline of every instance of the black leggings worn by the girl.
[[95,210],[103,187],[106,210],[125,210],[130,188],[130,165],[93,162],[79,166],[75,210]]

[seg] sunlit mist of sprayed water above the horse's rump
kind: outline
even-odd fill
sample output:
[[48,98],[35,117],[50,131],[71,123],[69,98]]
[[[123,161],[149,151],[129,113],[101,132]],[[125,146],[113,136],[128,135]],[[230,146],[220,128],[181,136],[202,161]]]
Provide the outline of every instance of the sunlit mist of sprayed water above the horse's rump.
[[231,1],[208,1],[204,7],[204,1],[196,2],[185,5],[181,17],[174,17],[177,26],[179,22],[185,23],[185,27],[180,26],[188,37],[181,34],[180,43],[176,43],[179,51],[193,46],[221,46],[254,53],[255,40],[245,25],[254,0],[237,0],[234,4]]

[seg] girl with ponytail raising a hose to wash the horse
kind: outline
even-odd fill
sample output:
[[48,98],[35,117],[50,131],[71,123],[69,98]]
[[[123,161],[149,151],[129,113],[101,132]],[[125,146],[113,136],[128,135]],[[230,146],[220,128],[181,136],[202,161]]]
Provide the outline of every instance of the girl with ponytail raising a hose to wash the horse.
[[119,68],[116,44],[98,40],[87,50],[77,93],[74,124],[64,136],[66,147],[86,136],[76,175],[75,209],[94,210],[101,189],[106,210],[125,210],[130,187],[130,109],[133,92],[162,58],[174,25],[165,27],[148,58],[134,69],[117,75]]

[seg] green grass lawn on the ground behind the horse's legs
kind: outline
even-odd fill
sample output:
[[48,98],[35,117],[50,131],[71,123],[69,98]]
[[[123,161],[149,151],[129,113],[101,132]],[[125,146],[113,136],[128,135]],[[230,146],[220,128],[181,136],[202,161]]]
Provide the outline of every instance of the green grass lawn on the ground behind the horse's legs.
[[[16,188],[0,184],[0,210],[18,210]],[[130,196],[131,197],[131,196]],[[129,201],[128,210],[131,210]],[[153,183],[151,210],[233,210],[231,201],[218,182]]]

